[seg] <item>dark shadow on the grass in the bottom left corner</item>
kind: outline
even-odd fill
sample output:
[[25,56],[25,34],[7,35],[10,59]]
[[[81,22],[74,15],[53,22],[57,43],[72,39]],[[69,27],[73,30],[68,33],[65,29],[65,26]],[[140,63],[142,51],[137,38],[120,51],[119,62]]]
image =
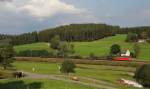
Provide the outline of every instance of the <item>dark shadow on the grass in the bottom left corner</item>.
[[41,82],[33,82],[25,84],[23,81],[12,81],[7,83],[0,83],[0,89],[41,89]]

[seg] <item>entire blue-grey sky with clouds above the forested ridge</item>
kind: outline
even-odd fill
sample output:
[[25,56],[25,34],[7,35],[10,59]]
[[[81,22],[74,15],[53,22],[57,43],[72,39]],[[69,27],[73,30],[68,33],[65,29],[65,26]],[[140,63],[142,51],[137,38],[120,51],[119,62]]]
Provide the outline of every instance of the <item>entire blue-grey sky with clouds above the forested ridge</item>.
[[0,33],[20,34],[71,23],[150,26],[150,0],[0,0]]

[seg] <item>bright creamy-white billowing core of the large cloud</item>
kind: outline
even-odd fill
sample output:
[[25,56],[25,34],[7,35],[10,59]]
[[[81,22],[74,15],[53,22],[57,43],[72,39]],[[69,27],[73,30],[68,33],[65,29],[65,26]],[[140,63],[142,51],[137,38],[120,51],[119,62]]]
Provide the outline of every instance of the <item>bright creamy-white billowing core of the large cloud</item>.
[[82,13],[79,8],[61,0],[30,0],[20,10],[38,18],[52,17],[59,13]]

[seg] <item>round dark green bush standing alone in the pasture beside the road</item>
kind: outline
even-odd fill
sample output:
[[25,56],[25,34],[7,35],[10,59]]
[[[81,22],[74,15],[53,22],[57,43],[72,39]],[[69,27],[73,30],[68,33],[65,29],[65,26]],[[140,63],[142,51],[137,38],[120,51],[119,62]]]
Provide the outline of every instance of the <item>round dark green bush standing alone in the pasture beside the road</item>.
[[65,60],[62,63],[60,71],[62,73],[66,73],[66,74],[74,73],[75,72],[75,70],[74,70],[75,68],[76,68],[76,65],[71,60]]

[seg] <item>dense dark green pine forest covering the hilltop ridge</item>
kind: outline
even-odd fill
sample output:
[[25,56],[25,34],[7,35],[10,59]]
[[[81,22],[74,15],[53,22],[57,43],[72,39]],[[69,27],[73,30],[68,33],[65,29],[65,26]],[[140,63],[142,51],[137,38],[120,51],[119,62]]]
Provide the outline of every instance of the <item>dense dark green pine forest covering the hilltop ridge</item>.
[[0,40],[9,39],[13,45],[29,44],[36,42],[49,42],[52,37],[59,35],[65,41],[93,41],[115,34],[127,34],[129,32],[150,33],[150,27],[120,28],[107,24],[70,24],[50,28],[39,32],[30,32],[19,35],[0,34]]

